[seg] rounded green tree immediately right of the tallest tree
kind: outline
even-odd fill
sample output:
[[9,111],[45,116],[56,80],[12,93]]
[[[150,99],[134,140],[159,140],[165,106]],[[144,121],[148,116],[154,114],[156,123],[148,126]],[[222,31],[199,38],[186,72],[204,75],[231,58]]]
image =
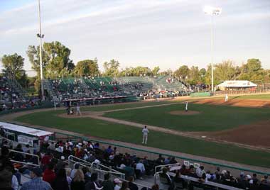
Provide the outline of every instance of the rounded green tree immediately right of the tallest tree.
[[75,66],[75,73],[80,75],[95,75],[99,74],[99,66],[97,65],[97,58],[95,60],[82,60],[77,62]]

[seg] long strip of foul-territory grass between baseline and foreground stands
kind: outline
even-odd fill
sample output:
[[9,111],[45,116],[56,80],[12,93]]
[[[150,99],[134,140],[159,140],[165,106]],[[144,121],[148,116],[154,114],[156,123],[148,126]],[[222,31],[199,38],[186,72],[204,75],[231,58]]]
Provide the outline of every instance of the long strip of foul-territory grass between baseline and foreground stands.
[[[99,121],[92,118],[59,118],[56,116],[57,113],[64,113],[64,111],[31,113],[20,116],[15,120],[33,125],[43,125],[49,128],[69,130],[82,133],[82,135],[92,135],[99,138],[141,144],[140,128]],[[185,138],[156,131],[150,132],[148,146],[259,167],[269,167],[270,163],[269,152],[248,150],[233,145],[210,143],[205,140]]]

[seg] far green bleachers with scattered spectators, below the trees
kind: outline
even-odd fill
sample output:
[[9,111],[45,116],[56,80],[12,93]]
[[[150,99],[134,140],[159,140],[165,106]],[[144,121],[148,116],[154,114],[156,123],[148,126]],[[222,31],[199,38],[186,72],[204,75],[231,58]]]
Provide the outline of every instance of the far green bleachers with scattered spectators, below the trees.
[[[48,84],[48,82],[50,84]],[[141,96],[159,91],[185,91],[185,86],[168,76],[153,77],[82,77],[50,79],[45,82],[50,96],[62,99],[104,96]]]

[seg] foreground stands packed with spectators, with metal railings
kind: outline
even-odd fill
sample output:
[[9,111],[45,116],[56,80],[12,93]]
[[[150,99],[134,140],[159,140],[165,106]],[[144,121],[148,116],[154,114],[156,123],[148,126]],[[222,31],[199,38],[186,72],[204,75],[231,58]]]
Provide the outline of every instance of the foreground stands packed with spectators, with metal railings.
[[[112,181],[114,178],[123,177],[120,179],[122,183],[135,179],[139,189],[151,187],[154,184],[159,185],[159,189],[257,189],[264,190],[270,188],[269,179],[264,176],[262,179],[257,177],[257,174],[245,174],[241,172],[239,176],[234,177],[227,169],[220,169],[217,167],[215,171],[210,172],[202,165],[184,164],[183,160],[175,160],[174,157],[165,158],[162,155],[156,160],[149,160],[148,157],[137,157],[131,155],[129,152],[119,152],[117,147],[107,146],[103,149],[103,145],[99,143],[92,143],[91,141],[71,141],[63,142],[46,141],[42,143],[40,152],[30,147],[17,144],[13,150],[12,144],[3,140],[1,146],[1,162],[13,160],[13,167],[16,171],[14,176],[18,180],[18,184],[27,181],[23,177],[30,174],[30,170],[36,165],[43,169],[43,180],[48,181],[51,186],[55,186],[56,176],[60,169],[65,169],[68,174],[67,180],[72,190],[72,179],[75,178],[77,170],[82,171],[84,176],[83,184],[92,182],[90,175],[95,175],[98,172],[97,182],[99,187],[102,186],[104,174],[111,172]],[[8,150],[9,153],[5,154]],[[33,153],[39,156],[26,155],[26,153]],[[69,158],[73,155],[72,160]],[[68,159],[69,158],[69,159]],[[181,163],[183,162],[183,163]],[[21,164],[19,164],[21,163]],[[24,164],[23,164],[24,163]],[[49,170],[49,171],[48,171]],[[0,169],[0,173],[2,170]],[[48,175],[49,174],[49,178]],[[22,181],[22,179],[24,181]],[[28,179],[29,181],[30,179]],[[114,179],[117,182],[119,179]],[[58,184],[61,186],[61,184]],[[117,185],[117,183],[114,183]],[[124,184],[122,184],[124,185]]]

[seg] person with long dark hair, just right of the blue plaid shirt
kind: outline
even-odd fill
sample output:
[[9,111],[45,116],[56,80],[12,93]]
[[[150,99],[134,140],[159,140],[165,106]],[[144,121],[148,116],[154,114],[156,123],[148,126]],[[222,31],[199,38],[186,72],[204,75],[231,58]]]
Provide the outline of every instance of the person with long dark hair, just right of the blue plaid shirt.
[[61,168],[56,174],[56,178],[52,183],[53,190],[69,190],[67,175],[65,169]]

